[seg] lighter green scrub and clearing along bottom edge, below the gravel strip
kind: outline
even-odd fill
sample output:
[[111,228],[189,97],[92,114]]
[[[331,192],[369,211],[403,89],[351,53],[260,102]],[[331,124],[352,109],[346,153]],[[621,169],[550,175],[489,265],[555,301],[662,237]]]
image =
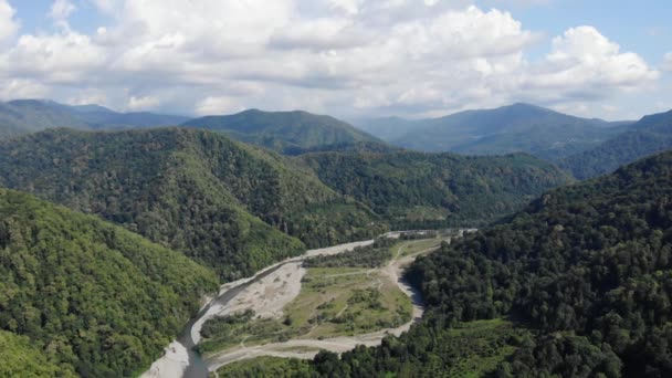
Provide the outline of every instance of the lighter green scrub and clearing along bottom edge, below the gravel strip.
[[[227,365],[218,370],[220,377],[437,377],[469,378],[495,376],[506,359],[531,334],[502,319],[456,324],[452,329],[434,335],[438,354],[429,355],[422,366],[395,361],[377,348],[357,347],[335,354],[321,351],[314,361],[259,357]],[[398,350],[395,338],[384,340],[384,350]],[[380,348],[378,348],[380,349]],[[346,361],[346,364],[344,364]],[[374,365],[378,361],[380,365]],[[398,365],[397,371],[385,370],[385,363]],[[399,366],[399,364],[401,364]]]

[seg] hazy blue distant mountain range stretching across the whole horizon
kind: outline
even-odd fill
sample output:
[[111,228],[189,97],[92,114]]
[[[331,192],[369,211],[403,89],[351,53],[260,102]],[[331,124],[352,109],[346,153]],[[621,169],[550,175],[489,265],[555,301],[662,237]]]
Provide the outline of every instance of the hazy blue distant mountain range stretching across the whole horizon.
[[291,156],[326,151],[392,154],[403,149],[485,156],[527,153],[557,164],[578,179],[586,179],[672,148],[671,113],[647,116],[639,122],[606,122],[513,104],[440,118],[359,120],[356,128],[337,118],[303,111],[250,109],[190,119],[154,113],[119,113],[94,104],[19,99],[0,103],[0,139],[59,127],[117,130],[180,126],[219,132]]

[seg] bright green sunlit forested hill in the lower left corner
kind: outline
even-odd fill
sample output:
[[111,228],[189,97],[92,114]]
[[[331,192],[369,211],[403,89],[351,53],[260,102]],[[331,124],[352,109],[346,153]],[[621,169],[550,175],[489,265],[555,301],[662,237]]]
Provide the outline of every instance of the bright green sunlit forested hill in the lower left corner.
[[0,376],[129,377],[218,290],[182,254],[0,189]]

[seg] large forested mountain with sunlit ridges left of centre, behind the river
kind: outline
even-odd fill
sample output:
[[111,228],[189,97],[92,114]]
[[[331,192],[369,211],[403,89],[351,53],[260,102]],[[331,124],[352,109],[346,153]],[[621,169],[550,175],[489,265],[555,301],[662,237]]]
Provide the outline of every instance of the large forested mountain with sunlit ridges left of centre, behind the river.
[[29,135],[0,143],[0,186],[99,214],[224,280],[301,253],[298,239],[323,246],[386,229],[312,172],[207,130]]

